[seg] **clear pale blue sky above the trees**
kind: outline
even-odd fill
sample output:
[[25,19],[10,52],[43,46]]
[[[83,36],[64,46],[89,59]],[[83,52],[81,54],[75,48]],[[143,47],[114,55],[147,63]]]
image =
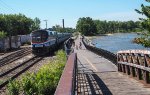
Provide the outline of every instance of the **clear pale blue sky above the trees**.
[[65,27],[76,27],[81,17],[91,17],[94,20],[107,21],[137,21],[144,17],[135,9],[141,9],[141,4],[148,5],[145,0],[0,0],[0,13],[22,13],[29,18],[38,17],[41,28],[60,25],[62,19]]

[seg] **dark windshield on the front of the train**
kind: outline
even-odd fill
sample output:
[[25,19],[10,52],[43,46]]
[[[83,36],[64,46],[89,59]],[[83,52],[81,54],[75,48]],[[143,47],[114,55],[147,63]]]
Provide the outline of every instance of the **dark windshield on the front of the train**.
[[32,32],[32,42],[45,42],[47,41],[48,33],[47,31],[39,30]]

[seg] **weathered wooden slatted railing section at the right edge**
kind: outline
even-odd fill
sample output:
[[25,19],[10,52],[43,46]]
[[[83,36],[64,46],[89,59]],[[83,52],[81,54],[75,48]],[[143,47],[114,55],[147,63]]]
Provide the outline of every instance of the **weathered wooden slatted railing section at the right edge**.
[[150,51],[126,50],[117,53],[118,71],[150,83]]

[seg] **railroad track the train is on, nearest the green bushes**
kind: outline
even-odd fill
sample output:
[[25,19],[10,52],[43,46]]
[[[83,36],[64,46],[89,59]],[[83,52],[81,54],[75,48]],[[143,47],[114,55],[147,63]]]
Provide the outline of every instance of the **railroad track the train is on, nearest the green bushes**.
[[27,71],[30,67],[32,67],[34,64],[41,61],[42,59],[43,59],[43,57],[34,56],[31,59],[0,74],[0,79],[3,80],[3,82],[0,84],[0,89],[2,89],[4,86],[6,86],[10,80],[17,78],[19,75],[21,75],[23,72]]

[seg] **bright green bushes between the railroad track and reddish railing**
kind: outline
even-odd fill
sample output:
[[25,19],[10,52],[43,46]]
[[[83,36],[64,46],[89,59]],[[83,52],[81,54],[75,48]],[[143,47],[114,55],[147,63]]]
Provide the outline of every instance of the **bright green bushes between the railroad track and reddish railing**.
[[[51,61],[34,73],[27,73],[20,81],[10,82],[9,85],[19,84],[20,93],[25,95],[53,95],[59,79],[61,77],[64,65],[66,63],[66,55],[60,50],[56,53],[56,60]],[[17,89],[18,86],[8,86],[10,95],[18,95],[12,89]]]

